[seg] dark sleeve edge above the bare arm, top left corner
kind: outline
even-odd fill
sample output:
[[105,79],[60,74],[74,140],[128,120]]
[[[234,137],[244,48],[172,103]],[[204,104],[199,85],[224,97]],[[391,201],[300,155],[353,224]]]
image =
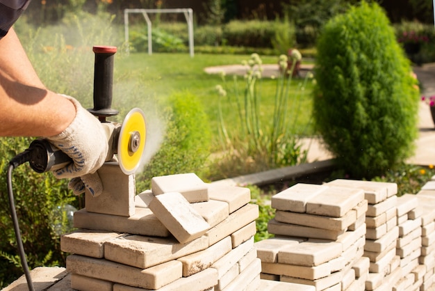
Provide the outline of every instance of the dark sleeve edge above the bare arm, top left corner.
[[31,0],[0,0],[0,39],[6,36]]

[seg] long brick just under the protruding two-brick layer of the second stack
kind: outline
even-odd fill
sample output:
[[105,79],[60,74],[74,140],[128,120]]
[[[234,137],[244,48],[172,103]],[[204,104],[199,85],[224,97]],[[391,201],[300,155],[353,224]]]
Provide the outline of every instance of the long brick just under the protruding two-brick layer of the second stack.
[[328,262],[325,262],[315,267],[261,262],[261,272],[265,272],[267,274],[303,278],[307,280],[315,280],[318,278],[329,276],[331,274],[331,266]]

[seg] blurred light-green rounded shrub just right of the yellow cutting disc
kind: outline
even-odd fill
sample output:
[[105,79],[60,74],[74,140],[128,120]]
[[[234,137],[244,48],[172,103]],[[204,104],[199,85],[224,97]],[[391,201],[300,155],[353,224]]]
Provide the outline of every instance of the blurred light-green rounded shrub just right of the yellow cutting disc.
[[184,91],[173,93],[168,102],[163,113],[167,120],[165,137],[156,155],[136,178],[140,190],[149,189],[151,178],[156,176],[200,175],[210,153],[210,126],[198,98]]

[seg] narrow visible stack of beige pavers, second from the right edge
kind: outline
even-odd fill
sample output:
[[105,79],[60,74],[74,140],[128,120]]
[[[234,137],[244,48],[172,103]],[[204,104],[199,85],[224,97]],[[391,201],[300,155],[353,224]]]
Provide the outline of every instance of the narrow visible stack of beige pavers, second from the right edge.
[[395,290],[420,290],[426,267],[420,265],[422,246],[421,212],[417,212],[416,195],[404,194],[397,198],[397,226],[399,238],[396,255],[400,256],[402,278],[394,286]]

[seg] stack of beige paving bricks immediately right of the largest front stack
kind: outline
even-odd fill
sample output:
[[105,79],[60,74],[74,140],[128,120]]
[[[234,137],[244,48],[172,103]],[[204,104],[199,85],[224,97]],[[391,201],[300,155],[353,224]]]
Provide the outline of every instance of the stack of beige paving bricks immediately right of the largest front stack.
[[274,238],[256,243],[261,278],[315,290],[364,290],[367,201],[361,189],[296,184],[272,196]]

